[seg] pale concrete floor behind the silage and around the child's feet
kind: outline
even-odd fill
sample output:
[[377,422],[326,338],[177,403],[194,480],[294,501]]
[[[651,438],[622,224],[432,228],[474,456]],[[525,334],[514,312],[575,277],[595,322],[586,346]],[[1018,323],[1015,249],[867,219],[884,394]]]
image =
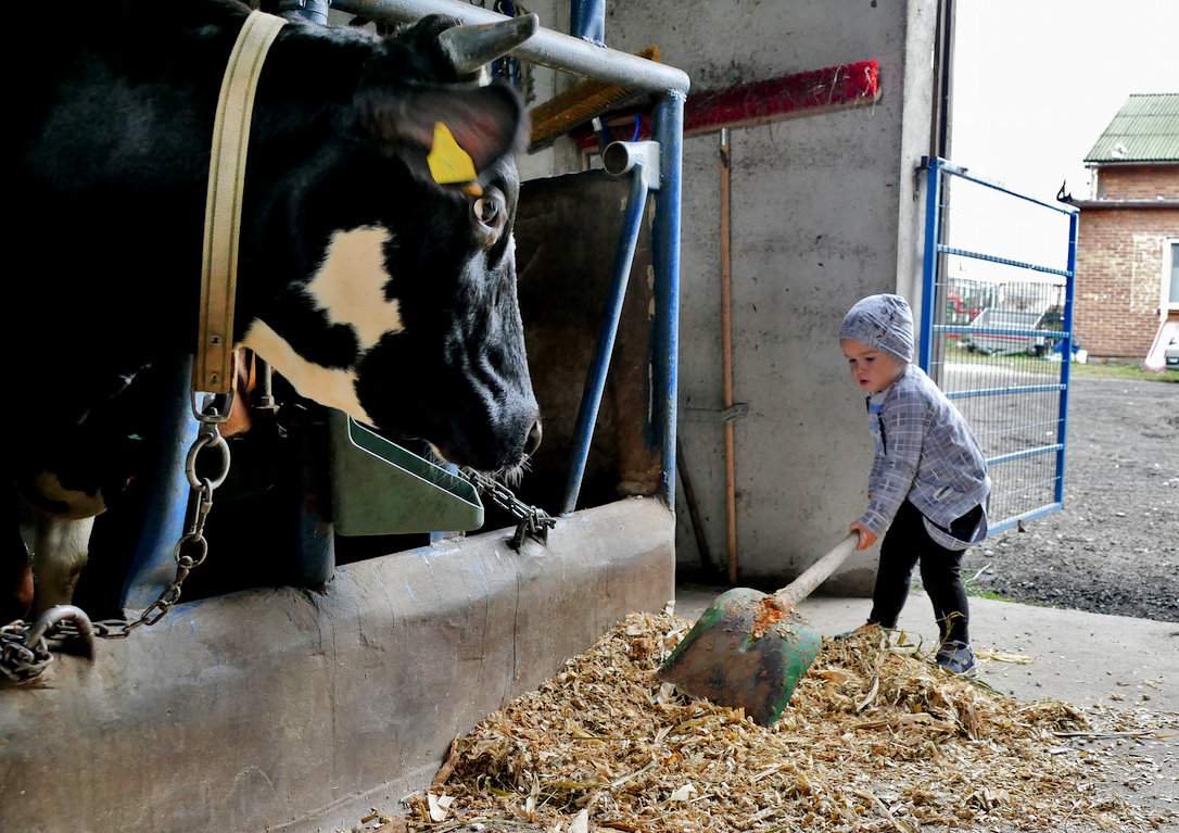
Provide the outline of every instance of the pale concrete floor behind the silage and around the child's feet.
[[[725,588],[680,585],[676,612],[696,619]],[[825,636],[868,618],[871,599],[812,596],[799,612]],[[929,598],[914,591],[900,628],[937,638]],[[1062,700],[1154,713],[1150,723],[1167,740],[1104,739],[1117,763],[1114,792],[1155,813],[1174,814],[1164,831],[1179,832],[1179,624],[970,598],[970,637],[976,650],[1030,656],[1030,664],[980,661],[979,677],[1019,700]]]

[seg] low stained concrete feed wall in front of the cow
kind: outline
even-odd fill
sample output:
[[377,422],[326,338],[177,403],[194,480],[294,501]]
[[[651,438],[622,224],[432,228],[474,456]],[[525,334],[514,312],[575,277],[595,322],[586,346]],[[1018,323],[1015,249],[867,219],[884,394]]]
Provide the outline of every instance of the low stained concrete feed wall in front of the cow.
[[[621,616],[672,598],[654,498],[178,605],[0,687],[0,831],[353,829]],[[555,627],[554,627],[555,625]]]

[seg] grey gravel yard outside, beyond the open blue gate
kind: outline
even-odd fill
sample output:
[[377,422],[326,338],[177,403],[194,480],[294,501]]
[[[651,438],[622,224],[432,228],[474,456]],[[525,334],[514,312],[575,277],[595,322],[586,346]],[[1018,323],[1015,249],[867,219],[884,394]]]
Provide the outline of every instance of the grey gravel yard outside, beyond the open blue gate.
[[971,547],[973,592],[1179,622],[1179,385],[1074,379],[1065,509]]

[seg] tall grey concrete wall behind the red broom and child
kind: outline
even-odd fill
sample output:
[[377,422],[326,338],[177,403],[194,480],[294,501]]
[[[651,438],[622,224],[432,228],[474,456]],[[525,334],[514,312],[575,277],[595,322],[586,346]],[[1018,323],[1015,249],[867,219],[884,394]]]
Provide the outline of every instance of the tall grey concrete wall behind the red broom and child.
[[[867,496],[871,442],[864,406],[836,341],[856,300],[916,300],[921,194],[928,152],[934,0],[693,5],[612,2],[606,40],[654,42],[693,90],[877,59],[872,107],[733,131],[732,293],[742,573],[776,581],[831,547]],[[680,435],[714,557],[723,558],[724,461],[719,335],[717,136],[686,142],[680,329]],[[683,494],[680,563],[697,547]],[[858,557],[843,586],[865,590]],[[837,577],[834,579],[839,582]]]

